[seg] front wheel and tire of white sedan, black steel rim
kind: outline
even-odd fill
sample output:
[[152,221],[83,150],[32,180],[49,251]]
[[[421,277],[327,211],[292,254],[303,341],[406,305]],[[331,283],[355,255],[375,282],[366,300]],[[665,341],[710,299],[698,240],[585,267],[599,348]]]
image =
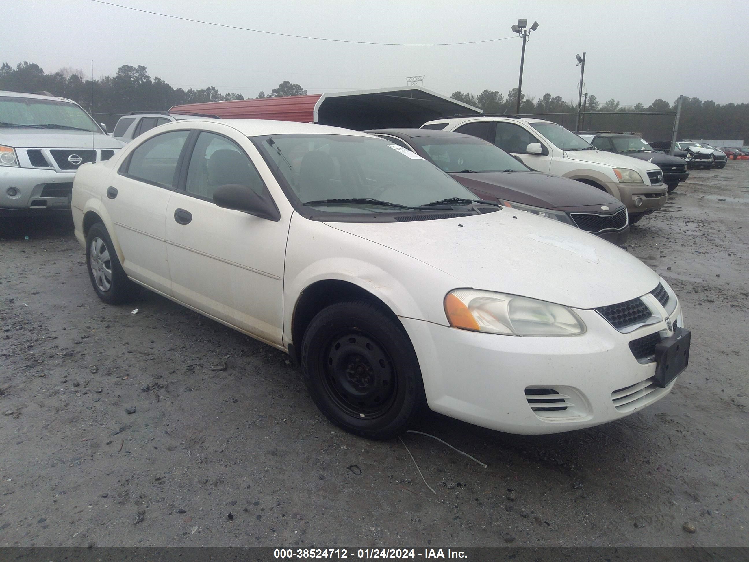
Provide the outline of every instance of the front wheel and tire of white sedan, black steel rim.
[[394,438],[425,408],[413,345],[377,303],[354,300],[318,312],[304,334],[301,363],[315,405],[355,435]]

